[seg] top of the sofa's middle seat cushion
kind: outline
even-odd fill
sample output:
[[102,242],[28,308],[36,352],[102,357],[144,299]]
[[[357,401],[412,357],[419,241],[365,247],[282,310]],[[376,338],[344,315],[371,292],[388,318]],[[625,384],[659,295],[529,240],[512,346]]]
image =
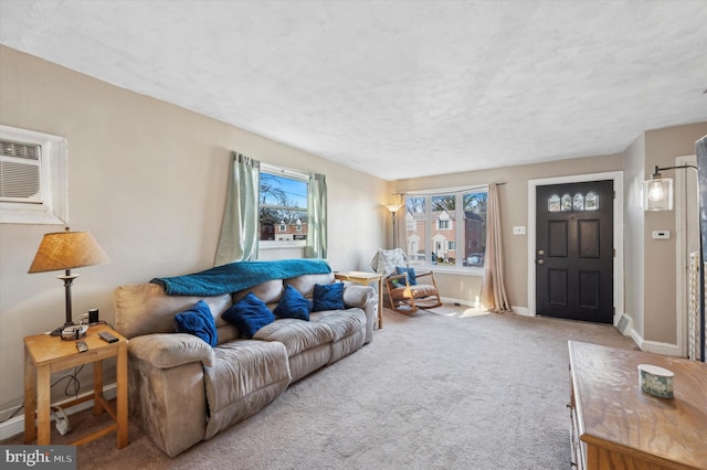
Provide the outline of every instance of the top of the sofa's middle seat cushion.
[[334,331],[324,323],[283,318],[263,328],[253,335],[255,340],[278,341],[285,345],[287,356],[331,342]]

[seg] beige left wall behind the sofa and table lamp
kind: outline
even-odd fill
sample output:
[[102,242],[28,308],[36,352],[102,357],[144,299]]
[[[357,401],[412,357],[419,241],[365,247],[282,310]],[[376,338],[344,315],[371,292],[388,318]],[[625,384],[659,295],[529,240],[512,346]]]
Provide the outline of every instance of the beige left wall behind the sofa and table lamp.
[[[389,182],[4,46],[0,63],[0,124],[68,139],[70,226],[113,259],[75,270],[74,318],[98,308],[113,321],[117,286],[213,266],[231,150],[326,174],[334,269],[366,268],[386,242]],[[27,274],[62,228],[0,225],[0,410],[22,402],[22,338],[64,321],[61,273]]]

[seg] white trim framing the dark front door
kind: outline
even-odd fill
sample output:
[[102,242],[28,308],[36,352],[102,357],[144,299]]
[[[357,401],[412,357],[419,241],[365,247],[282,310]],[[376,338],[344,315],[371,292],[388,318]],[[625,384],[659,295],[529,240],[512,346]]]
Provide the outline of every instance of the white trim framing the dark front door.
[[536,314],[536,188],[548,184],[579,183],[584,181],[613,180],[614,182],[614,325],[623,313],[623,171],[572,174],[568,177],[528,180],[528,314]]

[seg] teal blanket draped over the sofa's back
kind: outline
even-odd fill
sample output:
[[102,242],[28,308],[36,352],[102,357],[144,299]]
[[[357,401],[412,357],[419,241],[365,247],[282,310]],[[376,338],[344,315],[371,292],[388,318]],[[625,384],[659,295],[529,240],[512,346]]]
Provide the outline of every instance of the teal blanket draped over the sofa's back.
[[168,296],[220,296],[238,292],[272,279],[331,273],[324,259],[281,259],[276,261],[239,261],[184,276],[150,280],[165,288]]

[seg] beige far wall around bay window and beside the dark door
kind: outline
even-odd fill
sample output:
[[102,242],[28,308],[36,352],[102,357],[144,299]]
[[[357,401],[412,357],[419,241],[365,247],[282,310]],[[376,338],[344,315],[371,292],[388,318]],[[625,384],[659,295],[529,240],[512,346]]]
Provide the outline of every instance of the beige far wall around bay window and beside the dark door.
[[[502,211],[500,226],[503,231],[506,291],[511,306],[527,308],[528,238],[527,235],[513,235],[513,227],[514,225],[528,227],[528,181],[622,169],[623,156],[611,154],[399,180],[394,183],[394,190],[405,192],[505,182],[506,184],[498,186],[498,195]],[[473,302],[479,295],[481,276],[441,274],[435,275],[435,279],[439,279],[437,285],[443,297]]]

